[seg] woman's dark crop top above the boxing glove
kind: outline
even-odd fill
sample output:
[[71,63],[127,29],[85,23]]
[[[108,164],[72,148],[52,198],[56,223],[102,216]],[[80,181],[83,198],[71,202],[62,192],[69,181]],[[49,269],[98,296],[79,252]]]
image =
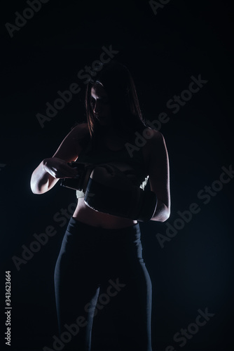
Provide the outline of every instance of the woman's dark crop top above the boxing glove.
[[[149,179],[142,147],[130,154],[125,146],[120,150],[110,150],[103,143],[102,145],[98,145],[98,147],[92,147],[92,142],[89,139],[88,143],[81,150],[77,161],[93,165],[113,164],[123,171],[125,176],[128,176],[134,185],[141,187],[143,190]],[[76,190],[77,198],[84,196],[83,191]]]

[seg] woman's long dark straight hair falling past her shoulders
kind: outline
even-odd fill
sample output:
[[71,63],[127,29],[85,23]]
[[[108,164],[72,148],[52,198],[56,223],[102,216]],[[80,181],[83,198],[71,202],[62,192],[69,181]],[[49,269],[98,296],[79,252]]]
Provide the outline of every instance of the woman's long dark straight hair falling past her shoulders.
[[100,131],[99,122],[95,118],[91,105],[91,88],[100,82],[104,87],[111,104],[111,117],[113,126],[120,135],[130,136],[135,131],[145,128],[142,112],[132,75],[125,65],[116,60],[104,64],[95,79],[90,80],[85,94],[86,116],[90,138]]

